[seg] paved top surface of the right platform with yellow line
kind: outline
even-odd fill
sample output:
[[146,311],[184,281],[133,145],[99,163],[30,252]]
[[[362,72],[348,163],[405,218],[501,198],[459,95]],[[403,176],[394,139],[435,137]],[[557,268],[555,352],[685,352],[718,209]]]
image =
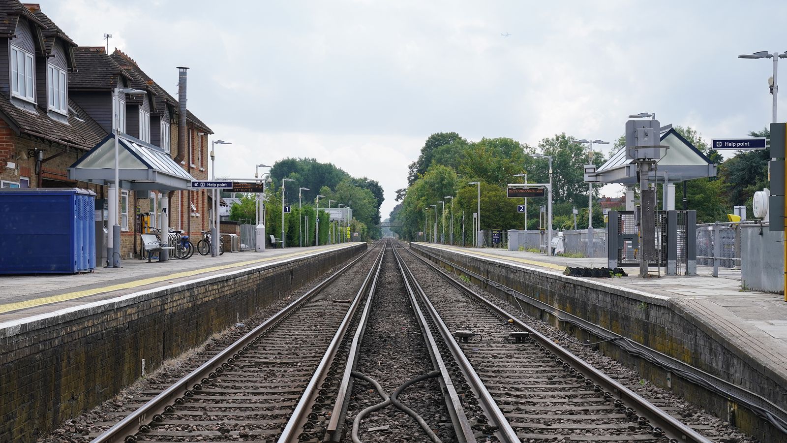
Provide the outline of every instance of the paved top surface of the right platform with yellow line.
[[[443,244],[424,244],[482,259],[500,260],[517,266],[540,268],[546,272],[563,274],[566,266],[607,266],[607,259],[573,259],[549,257],[534,252],[508,251],[498,248],[461,248]],[[628,277],[588,278],[634,289],[655,296],[670,298],[674,303],[699,312],[703,321],[722,333],[751,356],[776,372],[787,368],[787,302],[784,296],[769,292],[746,291],[741,288],[741,271],[719,268],[713,277],[712,266],[697,266],[697,276],[641,278],[639,268],[624,268]],[[663,268],[662,268],[663,272]],[[651,268],[651,274],[656,268]]]

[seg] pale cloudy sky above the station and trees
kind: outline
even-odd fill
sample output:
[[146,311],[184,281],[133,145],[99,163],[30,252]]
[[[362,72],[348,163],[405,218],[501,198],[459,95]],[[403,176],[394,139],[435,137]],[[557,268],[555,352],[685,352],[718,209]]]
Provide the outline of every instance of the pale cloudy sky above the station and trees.
[[234,143],[216,149],[219,176],[333,162],[382,184],[383,218],[433,132],[614,140],[655,111],[745,136],[770,122],[772,63],[736,56],[787,50],[778,1],[40,2],[79,45],[112,34],[173,95],[189,66],[189,109]]

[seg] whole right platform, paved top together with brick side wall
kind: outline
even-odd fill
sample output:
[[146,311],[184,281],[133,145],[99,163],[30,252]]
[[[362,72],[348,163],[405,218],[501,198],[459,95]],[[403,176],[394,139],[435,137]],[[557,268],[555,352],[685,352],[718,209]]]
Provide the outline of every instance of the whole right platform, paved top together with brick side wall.
[[[532,297],[534,306],[544,303],[530,309],[545,321],[574,316],[574,325],[593,323],[787,409],[787,303],[779,294],[741,288],[739,270],[720,270],[719,277],[712,277],[710,266],[698,266],[694,277],[571,277],[563,274],[567,266],[606,261],[443,244],[411,248],[444,267],[456,266],[457,273],[469,271],[498,295],[513,289]],[[639,369],[665,387],[674,383],[669,371]]]

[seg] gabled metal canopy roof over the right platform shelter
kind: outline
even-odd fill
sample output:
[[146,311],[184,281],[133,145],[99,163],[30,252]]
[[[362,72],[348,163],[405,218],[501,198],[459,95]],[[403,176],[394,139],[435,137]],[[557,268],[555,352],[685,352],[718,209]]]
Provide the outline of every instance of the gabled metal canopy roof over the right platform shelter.
[[[667,154],[656,164],[656,170],[648,173],[649,181],[678,182],[702,177],[715,177],[716,165],[705,154],[674,128],[662,132],[662,146],[668,146]],[[637,165],[626,158],[626,149],[617,151],[596,170],[599,183],[637,184]]]

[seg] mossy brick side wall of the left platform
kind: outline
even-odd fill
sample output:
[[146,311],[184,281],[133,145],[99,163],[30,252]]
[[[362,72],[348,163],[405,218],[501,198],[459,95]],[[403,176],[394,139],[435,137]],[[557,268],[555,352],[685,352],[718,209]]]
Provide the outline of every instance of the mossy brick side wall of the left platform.
[[142,359],[155,370],[235,324],[236,313],[249,317],[366,249],[353,245],[0,325],[0,441],[35,441],[135,382]]

